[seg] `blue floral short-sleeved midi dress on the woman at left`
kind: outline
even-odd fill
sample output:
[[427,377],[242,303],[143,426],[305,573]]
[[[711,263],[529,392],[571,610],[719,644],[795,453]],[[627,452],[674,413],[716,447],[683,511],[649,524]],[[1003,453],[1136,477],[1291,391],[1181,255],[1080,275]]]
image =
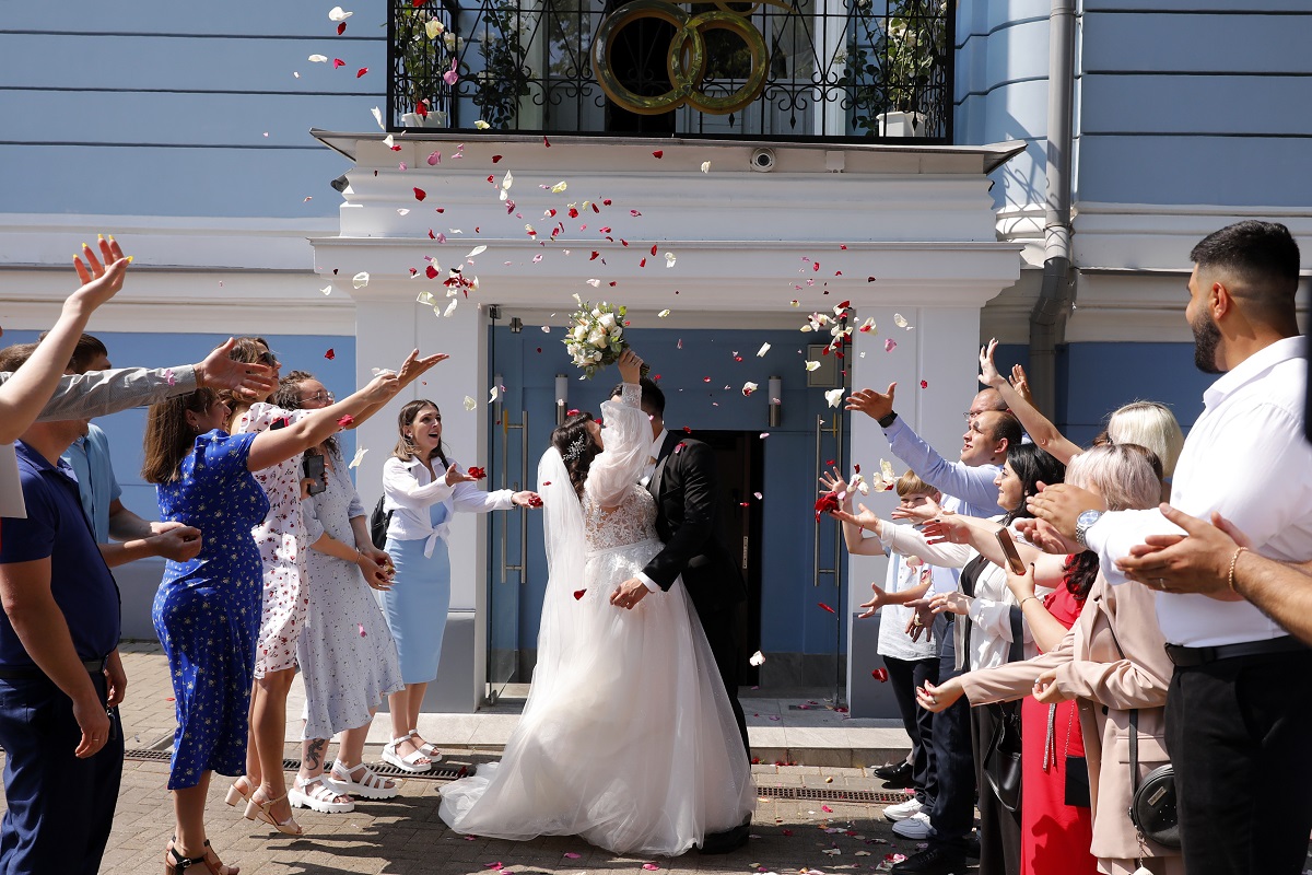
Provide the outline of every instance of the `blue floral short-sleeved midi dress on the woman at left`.
[[151,613],[173,678],[177,731],[168,788],[245,771],[264,565],[251,527],[269,513],[247,470],[255,434],[195,438],[181,476],[156,487],[160,518],[201,530],[201,555],[169,561]]

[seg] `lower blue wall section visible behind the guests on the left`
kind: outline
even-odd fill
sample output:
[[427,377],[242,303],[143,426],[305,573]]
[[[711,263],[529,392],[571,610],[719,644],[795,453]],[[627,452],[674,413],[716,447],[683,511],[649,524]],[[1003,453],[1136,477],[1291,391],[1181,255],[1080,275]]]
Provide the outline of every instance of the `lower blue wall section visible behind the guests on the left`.
[[[37,340],[39,332],[7,331],[8,344],[26,344]],[[194,363],[211,349],[227,340],[219,335],[147,335],[126,332],[97,333],[109,348],[109,361],[115,366],[169,367]],[[356,391],[356,338],[352,336],[298,337],[265,335],[278,359],[282,373],[307,370],[338,397]],[[324,353],[332,349],[335,358]],[[96,425],[109,436],[114,475],[123,488],[123,504],[146,519],[159,518],[155,487],[142,480],[142,434],[146,428],[146,408],[138,407],[96,420]],[[354,433],[346,432],[342,451],[349,459],[354,454]]]

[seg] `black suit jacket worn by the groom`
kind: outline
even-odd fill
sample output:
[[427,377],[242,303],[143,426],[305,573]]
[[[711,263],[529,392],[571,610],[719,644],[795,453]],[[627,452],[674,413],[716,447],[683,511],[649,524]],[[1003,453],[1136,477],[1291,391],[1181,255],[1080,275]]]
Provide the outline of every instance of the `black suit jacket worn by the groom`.
[[668,434],[647,489],[656,499],[656,534],[665,547],[643,573],[664,590],[682,575],[698,610],[747,600],[743,575],[720,538],[719,480],[711,447]]

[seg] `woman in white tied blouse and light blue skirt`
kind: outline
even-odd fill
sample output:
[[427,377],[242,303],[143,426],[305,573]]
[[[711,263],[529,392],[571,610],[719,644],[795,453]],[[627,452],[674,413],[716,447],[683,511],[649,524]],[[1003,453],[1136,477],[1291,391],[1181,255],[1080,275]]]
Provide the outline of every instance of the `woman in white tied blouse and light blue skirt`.
[[441,754],[419,735],[419,708],[437,677],[442,632],[451,605],[451,563],[446,535],[457,510],[487,513],[535,508],[534,492],[484,492],[479,479],[449,459],[442,447],[442,413],[428,400],[411,401],[396,420],[399,439],[383,464],[387,554],[396,565],[382,593],[387,626],[396,639],[405,689],[387,697],[392,740],[383,761],[405,771],[428,771]]

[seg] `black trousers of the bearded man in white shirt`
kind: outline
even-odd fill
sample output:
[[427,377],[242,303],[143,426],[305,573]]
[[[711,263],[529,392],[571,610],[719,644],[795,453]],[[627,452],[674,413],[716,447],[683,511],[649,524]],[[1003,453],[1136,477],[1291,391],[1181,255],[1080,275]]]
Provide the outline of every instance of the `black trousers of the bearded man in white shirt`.
[[1298,875],[1312,830],[1312,651],[1177,668],[1166,697],[1189,875]]

